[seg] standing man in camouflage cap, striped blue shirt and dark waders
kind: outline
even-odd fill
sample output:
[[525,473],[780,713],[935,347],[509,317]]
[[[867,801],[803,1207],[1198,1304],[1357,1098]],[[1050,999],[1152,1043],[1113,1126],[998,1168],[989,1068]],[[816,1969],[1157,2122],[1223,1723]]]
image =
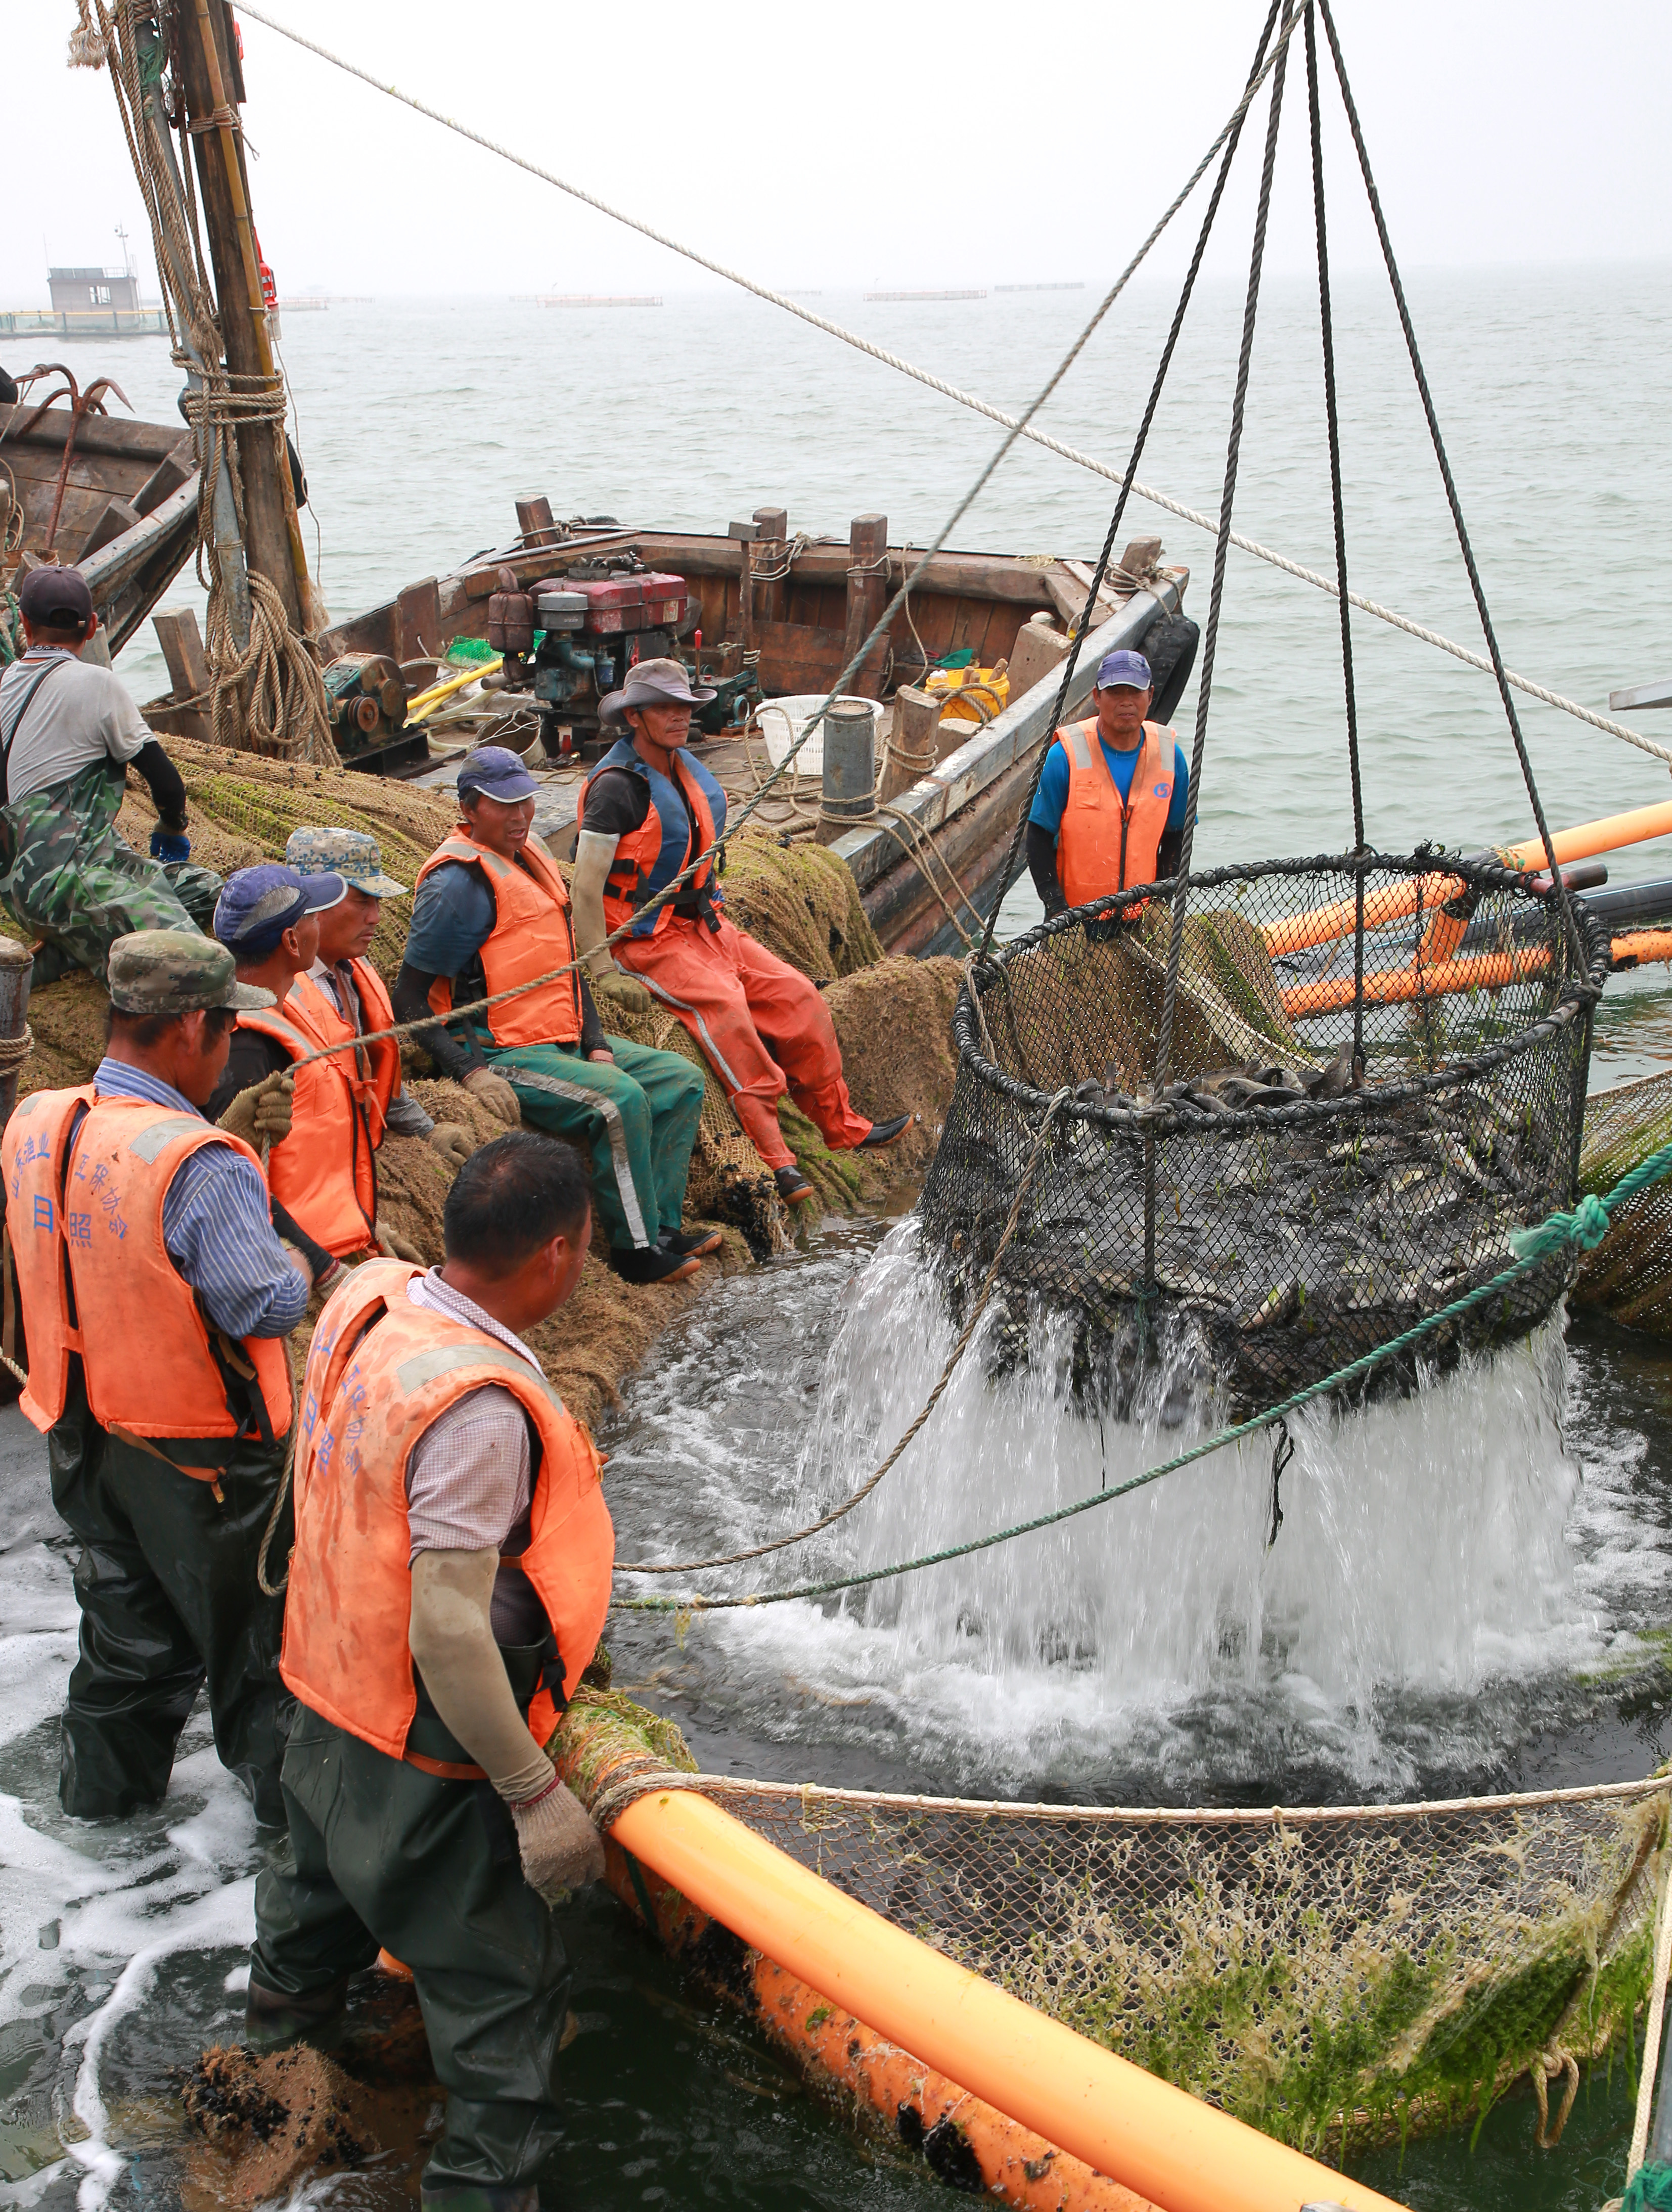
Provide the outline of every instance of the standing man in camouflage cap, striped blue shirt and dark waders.
[[[100,1818],[155,1805],[203,1681],[221,1765],[283,1820],[283,1597],[290,1548],[283,1338],[312,1272],[268,1214],[252,1141],[201,1108],[239,1009],[270,1002],[197,931],[111,947],[104,1060],[22,1099],[0,1144],[29,1385],[53,1504],[82,1544],[82,1648],[58,1796]],[[257,1133],[270,1093],[228,1115]]]

